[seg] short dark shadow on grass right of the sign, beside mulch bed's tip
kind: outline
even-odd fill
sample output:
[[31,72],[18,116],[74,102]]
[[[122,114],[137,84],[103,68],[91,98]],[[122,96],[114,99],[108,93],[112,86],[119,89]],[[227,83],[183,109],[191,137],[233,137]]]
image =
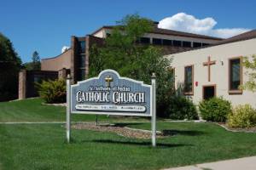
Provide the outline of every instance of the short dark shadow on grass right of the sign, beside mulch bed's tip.
[[162,130],[164,136],[175,136],[175,135],[187,135],[187,136],[199,136],[205,134],[202,131],[196,130],[177,130],[177,129],[165,129]]

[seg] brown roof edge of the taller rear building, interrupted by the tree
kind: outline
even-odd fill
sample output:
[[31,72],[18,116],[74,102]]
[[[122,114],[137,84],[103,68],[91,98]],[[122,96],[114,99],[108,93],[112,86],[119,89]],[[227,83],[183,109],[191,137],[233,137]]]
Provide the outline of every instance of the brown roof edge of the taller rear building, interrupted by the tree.
[[[98,30],[92,32],[91,35],[96,34],[98,31],[102,31],[102,29],[113,29],[114,27],[115,26],[102,26]],[[193,34],[193,33],[189,33],[189,32],[162,29],[162,28],[158,28],[157,26],[155,26],[154,30],[150,31],[149,33],[164,34],[164,35],[179,36],[179,37],[195,37],[195,38],[218,40],[218,41],[224,40],[223,38],[219,38],[219,37],[209,37],[209,36]]]

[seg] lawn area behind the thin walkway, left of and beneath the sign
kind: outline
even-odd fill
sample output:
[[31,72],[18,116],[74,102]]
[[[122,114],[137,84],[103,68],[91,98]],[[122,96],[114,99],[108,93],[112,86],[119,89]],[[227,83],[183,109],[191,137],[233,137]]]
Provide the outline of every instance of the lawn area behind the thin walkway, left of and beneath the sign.
[[[42,99],[24,99],[12,102],[0,102],[0,122],[65,122],[66,107],[43,105]],[[142,117],[98,116],[100,122],[148,121]],[[73,122],[93,122],[95,115],[72,115]]]

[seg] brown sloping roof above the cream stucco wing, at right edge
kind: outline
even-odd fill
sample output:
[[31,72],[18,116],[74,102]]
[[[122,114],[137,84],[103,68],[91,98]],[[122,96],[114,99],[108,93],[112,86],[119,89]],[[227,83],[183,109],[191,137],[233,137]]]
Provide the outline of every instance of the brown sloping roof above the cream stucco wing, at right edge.
[[240,41],[249,40],[249,39],[253,39],[253,38],[256,38],[256,30],[247,31],[247,32],[244,32],[237,36],[230,37],[228,39],[224,39],[220,42],[213,43],[212,46],[221,45],[221,44],[225,44],[225,43],[231,43],[231,42],[240,42]]

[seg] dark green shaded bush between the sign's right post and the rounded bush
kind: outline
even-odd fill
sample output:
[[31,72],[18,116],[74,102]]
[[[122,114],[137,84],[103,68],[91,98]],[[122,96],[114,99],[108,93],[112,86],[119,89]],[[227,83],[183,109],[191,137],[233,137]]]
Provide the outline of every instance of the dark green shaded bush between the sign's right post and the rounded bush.
[[196,107],[190,99],[183,96],[173,96],[166,109],[166,117],[177,120],[198,119]]

